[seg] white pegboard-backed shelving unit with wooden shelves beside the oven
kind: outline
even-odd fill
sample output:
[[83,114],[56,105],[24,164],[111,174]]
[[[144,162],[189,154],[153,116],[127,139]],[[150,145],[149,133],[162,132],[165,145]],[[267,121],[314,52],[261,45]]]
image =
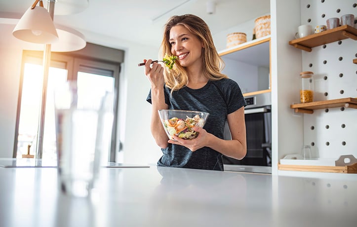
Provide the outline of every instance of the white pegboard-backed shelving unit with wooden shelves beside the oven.
[[[357,97],[356,25],[294,39],[300,25],[310,24],[314,28],[326,24],[331,17],[356,15],[354,3],[354,0],[271,0],[273,174],[340,178],[355,175],[288,170],[280,168],[279,163],[289,154],[300,154],[303,145],[311,146],[315,158],[337,160],[348,154],[357,157],[357,112],[352,108]],[[304,71],[314,72],[317,102],[300,104],[299,75]],[[301,110],[314,114],[296,114]]]

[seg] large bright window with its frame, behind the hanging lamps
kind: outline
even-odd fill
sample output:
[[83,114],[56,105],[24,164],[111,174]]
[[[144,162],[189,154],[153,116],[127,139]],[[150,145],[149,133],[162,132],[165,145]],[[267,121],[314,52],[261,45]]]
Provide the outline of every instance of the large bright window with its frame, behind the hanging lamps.
[[[48,73],[46,106],[44,111],[44,129],[42,157],[56,158],[56,136],[53,92],[56,84],[66,80],[76,80],[93,92],[116,91],[114,108],[112,144],[107,159],[115,161],[116,132],[118,116],[119,70],[123,52],[94,44],[87,45],[81,51],[74,53],[52,53]],[[86,49],[86,50],[85,50]],[[96,52],[96,58],[91,52]],[[98,50],[101,50],[98,52]],[[114,52],[113,52],[114,51]],[[98,54],[99,53],[99,54]],[[115,53],[115,54],[113,54]],[[98,58],[98,56],[103,56]],[[114,58],[112,61],[109,57]],[[114,57],[113,57],[114,56]],[[118,57],[119,56],[119,57]],[[22,154],[30,153],[36,157],[37,136],[40,118],[40,96],[42,91],[42,53],[39,51],[24,51],[23,70],[20,79],[18,113],[16,118],[15,143],[13,157],[21,158]]]

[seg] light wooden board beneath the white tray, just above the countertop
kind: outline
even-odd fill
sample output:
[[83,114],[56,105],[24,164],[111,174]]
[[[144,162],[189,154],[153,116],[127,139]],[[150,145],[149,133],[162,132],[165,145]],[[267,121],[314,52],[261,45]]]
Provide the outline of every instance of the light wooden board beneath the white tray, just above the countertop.
[[278,164],[279,170],[324,172],[324,173],[355,173],[357,174],[357,163],[349,166],[316,166],[316,165],[283,165]]

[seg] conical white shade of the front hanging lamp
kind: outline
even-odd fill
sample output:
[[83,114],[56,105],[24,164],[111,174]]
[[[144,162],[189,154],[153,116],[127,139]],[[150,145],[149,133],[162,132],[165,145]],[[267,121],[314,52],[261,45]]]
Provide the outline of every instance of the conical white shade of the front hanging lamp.
[[58,34],[48,11],[40,6],[26,10],[12,35],[24,41],[52,44],[58,41]]

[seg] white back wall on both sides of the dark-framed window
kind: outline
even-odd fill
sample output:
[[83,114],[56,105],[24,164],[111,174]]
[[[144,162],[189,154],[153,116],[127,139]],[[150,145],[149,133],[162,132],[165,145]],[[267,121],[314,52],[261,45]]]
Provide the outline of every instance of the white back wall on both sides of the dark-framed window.
[[[137,64],[144,58],[157,58],[158,49],[129,41],[83,32],[88,42],[125,51],[120,73],[119,139],[122,151],[118,161],[156,163],[161,155],[150,133],[151,105],[146,102],[150,83]],[[1,34],[2,36],[12,36]],[[10,38],[11,40],[11,38]],[[159,40],[160,41],[160,40]],[[0,45],[0,157],[12,157],[22,47]]]

